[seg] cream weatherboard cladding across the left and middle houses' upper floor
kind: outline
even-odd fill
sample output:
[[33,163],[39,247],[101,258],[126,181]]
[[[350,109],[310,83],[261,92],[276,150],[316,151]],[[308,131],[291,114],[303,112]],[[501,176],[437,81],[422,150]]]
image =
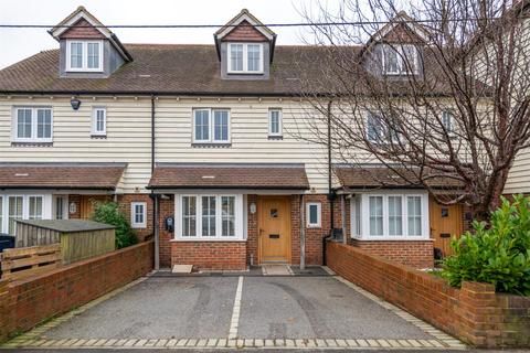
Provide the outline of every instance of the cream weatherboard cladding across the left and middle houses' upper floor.
[[[71,97],[0,97],[0,159],[4,162],[127,162],[123,192],[148,192],[151,168],[151,101],[149,97],[81,96],[74,111]],[[53,108],[53,146],[14,146],[13,108]],[[105,107],[105,138],[93,138],[92,110]],[[194,108],[230,109],[231,145],[192,145]],[[268,138],[268,110],[283,111],[283,139]],[[326,147],[310,143],[306,110],[298,100],[279,98],[160,97],[156,99],[157,162],[305,163],[312,192],[327,192]]]

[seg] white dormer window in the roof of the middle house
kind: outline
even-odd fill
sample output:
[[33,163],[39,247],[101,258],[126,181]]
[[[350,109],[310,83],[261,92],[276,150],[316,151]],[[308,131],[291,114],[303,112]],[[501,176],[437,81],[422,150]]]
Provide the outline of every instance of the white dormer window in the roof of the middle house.
[[229,43],[229,73],[262,74],[262,43]]

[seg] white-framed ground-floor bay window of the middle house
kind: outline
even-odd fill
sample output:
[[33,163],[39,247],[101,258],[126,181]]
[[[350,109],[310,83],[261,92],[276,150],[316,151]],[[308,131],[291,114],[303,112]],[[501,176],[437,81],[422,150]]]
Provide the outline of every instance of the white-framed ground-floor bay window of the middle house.
[[178,239],[243,238],[242,195],[177,195],[176,201]]

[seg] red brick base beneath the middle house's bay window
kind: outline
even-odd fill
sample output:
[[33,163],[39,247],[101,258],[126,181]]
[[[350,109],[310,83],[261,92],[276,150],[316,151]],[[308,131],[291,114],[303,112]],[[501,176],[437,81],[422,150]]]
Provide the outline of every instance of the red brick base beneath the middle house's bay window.
[[246,269],[246,242],[172,242],[171,265],[198,269]]

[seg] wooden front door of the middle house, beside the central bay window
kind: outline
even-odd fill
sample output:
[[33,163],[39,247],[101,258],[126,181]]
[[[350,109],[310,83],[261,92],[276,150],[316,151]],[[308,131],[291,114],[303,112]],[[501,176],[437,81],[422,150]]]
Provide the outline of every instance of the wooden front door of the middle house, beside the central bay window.
[[290,200],[261,196],[258,200],[259,263],[290,263]]

